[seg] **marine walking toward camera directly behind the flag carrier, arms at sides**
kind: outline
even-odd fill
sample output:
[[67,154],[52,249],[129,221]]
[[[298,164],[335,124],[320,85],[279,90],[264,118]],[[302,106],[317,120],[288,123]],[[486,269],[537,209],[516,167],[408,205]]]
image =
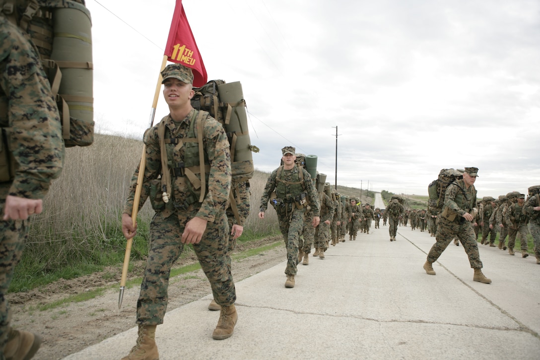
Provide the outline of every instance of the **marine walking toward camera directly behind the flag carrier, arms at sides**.
[[[315,228],[320,221],[320,205],[315,185],[309,172],[294,163],[296,156],[292,146],[281,149],[284,165],[272,171],[266,186],[262,190],[259,218],[264,219],[265,211],[272,192],[275,190],[274,208],[278,214],[279,230],[283,235],[287,248],[287,266],[285,274],[286,288],[294,287],[296,264],[298,264],[298,243],[303,228],[304,213],[307,206],[313,211],[312,226]],[[279,175],[278,175],[279,172]],[[300,174],[300,172],[302,174]],[[300,202],[306,200],[305,204]]]

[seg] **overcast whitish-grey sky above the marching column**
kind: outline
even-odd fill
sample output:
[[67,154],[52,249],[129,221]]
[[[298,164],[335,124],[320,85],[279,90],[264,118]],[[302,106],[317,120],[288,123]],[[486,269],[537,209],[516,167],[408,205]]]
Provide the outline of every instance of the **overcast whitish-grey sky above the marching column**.
[[[86,1],[97,131],[149,126],[174,4]],[[478,197],[540,184],[538,0],[183,4],[208,79],[242,84],[255,168],[293,145],[334,184],[338,126],[339,185],[427,195],[464,166]]]

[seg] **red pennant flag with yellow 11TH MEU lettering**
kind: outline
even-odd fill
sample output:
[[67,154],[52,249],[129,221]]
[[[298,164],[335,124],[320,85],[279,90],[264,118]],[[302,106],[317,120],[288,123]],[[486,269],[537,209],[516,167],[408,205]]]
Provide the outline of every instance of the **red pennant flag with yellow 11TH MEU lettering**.
[[193,70],[193,86],[199,88],[206,84],[208,76],[190,24],[187,22],[182,0],[176,0],[174,6],[165,55],[168,61],[185,65]]

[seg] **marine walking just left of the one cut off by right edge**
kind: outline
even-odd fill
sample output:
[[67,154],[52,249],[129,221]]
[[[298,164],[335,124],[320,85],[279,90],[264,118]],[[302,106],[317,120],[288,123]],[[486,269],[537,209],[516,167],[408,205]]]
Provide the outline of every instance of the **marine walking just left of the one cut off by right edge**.
[[505,220],[508,225],[508,254],[514,255],[514,245],[516,243],[516,235],[519,233],[519,242],[521,243],[521,256],[529,256],[529,248],[527,245],[527,223],[529,219],[525,212],[525,194],[519,194],[516,202],[508,206],[505,213]]

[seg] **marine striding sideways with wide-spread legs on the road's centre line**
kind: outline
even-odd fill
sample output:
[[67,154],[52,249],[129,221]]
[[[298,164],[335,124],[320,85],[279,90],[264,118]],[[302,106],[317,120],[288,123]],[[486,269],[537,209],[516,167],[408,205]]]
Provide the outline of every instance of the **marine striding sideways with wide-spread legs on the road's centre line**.
[[437,218],[438,230],[436,243],[431,246],[423,268],[428,275],[435,275],[433,264],[441,256],[444,249],[455,237],[460,239],[469,257],[471,268],[474,269],[474,281],[485,284],[491,280],[482,274],[482,262],[478,254],[478,245],[474,235],[473,221],[476,204],[476,189],[474,183],[478,176],[477,168],[465,168],[463,179],[458,179],[448,185],[444,195],[444,210]]

